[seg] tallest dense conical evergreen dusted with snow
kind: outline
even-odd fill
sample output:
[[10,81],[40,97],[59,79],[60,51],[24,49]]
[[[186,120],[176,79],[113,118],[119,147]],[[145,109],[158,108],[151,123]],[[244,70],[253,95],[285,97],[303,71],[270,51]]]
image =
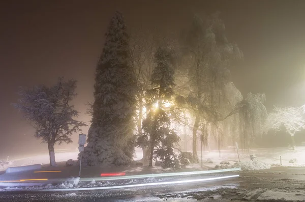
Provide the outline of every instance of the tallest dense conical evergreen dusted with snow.
[[116,12],[96,68],[92,125],[83,161],[88,165],[125,165],[134,154],[136,84],[130,63],[125,20]]

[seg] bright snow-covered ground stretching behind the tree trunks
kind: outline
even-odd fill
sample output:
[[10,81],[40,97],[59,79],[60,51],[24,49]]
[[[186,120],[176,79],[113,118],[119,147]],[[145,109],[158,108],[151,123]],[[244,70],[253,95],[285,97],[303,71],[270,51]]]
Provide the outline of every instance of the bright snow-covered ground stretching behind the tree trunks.
[[[199,163],[187,166],[187,170],[202,170],[202,169],[212,169],[216,165],[220,165],[221,161],[228,160],[230,165],[224,165],[221,168],[234,167],[233,164],[238,162],[238,156],[234,150],[222,150],[221,153],[218,151],[203,152],[203,166],[201,167],[201,151],[197,152],[199,154]],[[252,149],[250,154],[256,154],[257,160],[260,164],[253,165],[250,161],[249,154],[239,151],[240,167],[243,170],[256,170],[268,168],[268,165],[280,165],[280,156],[282,157],[282,166],[305,166],[305,147],[296,147],[293,151],[288,148],[268,148],[268,149]],[[77,160],[78,151],[70,152],[57,152],[55,154],[56,162],[59,166],[65,166],[68,159]],[[138,150],[135,156],[135,160],[142,158],[142,153]],[[205,161],[210,158],[213,163],[205,163]],[[290,162],[289,162],[290,161]],[[61,163],[60,163],[61,162]],[[12,166],[24,166],[32,164],[42,164],[44,167],[49,165],[49,156],[47,153],[40,154],[37,156],[29,156],[25,158],[13,159],[11,161],[0,161],[0,171],[5,170],[7,167]],[[122,168],[123,169],[123,168]],[[128,170],[130,168],[126,168]],[[133,168],[134,172],[145,173],[143,167]],[[124,169],[123,169],[124,170]],[[166,170],[155,170],[154,172],[163,172]]]

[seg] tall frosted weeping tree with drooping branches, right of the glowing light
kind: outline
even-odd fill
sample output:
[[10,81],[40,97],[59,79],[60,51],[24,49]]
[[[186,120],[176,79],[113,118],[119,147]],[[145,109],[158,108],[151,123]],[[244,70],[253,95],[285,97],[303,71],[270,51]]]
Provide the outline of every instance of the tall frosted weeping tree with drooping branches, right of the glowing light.
[[229,65],[232,60],[242,57],[236,44],[225,36],[225,26],[218,14],[207,18],[194,16],[189,30],[182,35],[184,62],[190,93],[188,102],[195,121],[193,125],[193,156],[197,156],[197,131],[200,123],[217,122],[225,114],[219,110],[225,99],[225,88],[229,82]]

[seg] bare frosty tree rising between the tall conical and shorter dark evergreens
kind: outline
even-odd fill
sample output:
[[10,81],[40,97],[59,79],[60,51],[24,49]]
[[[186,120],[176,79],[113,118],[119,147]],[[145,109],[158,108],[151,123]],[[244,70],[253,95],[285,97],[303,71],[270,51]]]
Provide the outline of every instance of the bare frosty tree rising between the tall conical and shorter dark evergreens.
[[[137,94],[136,94],[136,134],[142,134],[142,121],[146,117],[145,91],[151,88],[151,74],[156,66],[155,53],[162,46],[173,46],[172,35],[167,32],[160,33],[157,28],[144,29],[135,28],[130,37],[130,55],[132,67],[136,75]],[[148,160],[149,153],[145,147],[143,149],[143,159]]]

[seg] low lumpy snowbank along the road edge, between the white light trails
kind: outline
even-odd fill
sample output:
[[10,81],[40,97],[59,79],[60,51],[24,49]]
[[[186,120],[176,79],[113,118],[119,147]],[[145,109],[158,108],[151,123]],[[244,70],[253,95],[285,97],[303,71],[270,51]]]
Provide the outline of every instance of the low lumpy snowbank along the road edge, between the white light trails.
[[[168,180],[168,178],[166,178]],[[71,178],[66,182],[52,185],[41,185],[41,186],[28,186],[28,187],[6,187],[0,189],[1,191],[32,191],[32,190],[43,190],[43,189],[70,189],[70,188],[87,188],[87,187],[107,187],[107,186],[120,186],[120,185],[131,185],[131,184],[143,184],[143,183],[154,183],[162,182],[165,179],[155,179],[155,178],[144,178],[144,179],[131,179],[131,180],[121,180],[121,181],[88,181],[82,182],[79,178]]]

